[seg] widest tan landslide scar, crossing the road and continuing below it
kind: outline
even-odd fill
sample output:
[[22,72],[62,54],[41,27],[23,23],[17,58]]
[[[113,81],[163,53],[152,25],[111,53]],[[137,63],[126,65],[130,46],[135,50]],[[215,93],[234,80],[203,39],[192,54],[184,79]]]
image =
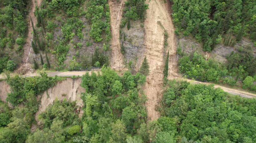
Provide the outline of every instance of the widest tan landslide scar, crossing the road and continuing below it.
[[[149,62],[150,73],[147,77],[144,90],[148,97],[146,103],[148,119],[156,120],[160,115],[155,108],[163,95],[164,55],[169,50],[169,74],[174,74],[177,71],[176,43],[168,3],[164,3],[164,1],[160,0],[147,0],[146,3],[148,4],[148,10],[144,22],[145,55]],[[158,21],[160,21],[164,29],[168,31],[169,38],[167,49],[164,49],[163,29],[158,24]]]

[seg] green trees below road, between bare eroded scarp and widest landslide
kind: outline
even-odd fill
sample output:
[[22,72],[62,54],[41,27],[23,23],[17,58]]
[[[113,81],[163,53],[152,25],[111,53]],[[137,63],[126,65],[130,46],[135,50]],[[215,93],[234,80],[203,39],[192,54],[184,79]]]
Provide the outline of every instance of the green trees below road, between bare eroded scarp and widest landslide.
[[[141,85],[146,77],[124,73],[122,77],[103,67],[101,75],[82,77],[84,114],[78,118],[75,103],[55,101],[39,118],[43,128],[27,142],[142,142],[148,135],[145,97]],[[142,94],[139,96],[139,94]],[[146,136],[145,136],[146,135]]]

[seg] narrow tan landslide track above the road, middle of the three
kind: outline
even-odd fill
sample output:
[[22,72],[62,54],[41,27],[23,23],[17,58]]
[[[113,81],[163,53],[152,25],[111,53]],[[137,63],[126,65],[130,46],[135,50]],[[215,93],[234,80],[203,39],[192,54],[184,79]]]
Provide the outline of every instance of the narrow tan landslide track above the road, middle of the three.
[[111,68],[117,71],[125,70],[123,64],[123,54],[121,53],[121,45],[119,41],[120,23],[123,15],[125,0],[109,0],[110,23],[111,23]]

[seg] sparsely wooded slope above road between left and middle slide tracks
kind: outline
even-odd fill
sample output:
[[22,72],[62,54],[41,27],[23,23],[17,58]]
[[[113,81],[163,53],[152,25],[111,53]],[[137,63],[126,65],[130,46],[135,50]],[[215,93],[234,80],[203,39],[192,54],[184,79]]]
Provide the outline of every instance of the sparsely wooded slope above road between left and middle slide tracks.
[[[109,50],[111,32],[107,1],[43,0],[35,15],[38,24],[33,28],[32,47],[35,53],[41,54],[40,61],[46,59],[46,62],[41,62],[42,67],[81,70],[95,66],[96,62],[100,62],[100,66],[108,64],[106,51]],[[102,42],[103,47],[96,47],[94,56],[92,53],[80,54],[80,51],[84,52],[85,48],[92,46],[93,41]],[[57,61],[57,64],[49,62],[47,53],[55,55],[56,59],[52,61]],[[71,59],[65,62],[70,54]]]

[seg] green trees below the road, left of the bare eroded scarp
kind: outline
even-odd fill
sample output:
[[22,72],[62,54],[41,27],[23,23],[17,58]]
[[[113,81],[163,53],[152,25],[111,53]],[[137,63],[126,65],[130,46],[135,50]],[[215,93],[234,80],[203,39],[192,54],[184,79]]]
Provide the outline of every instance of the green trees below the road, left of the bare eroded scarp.
[[25,142],[30,133],[34,114],[38,111],[37,95],[55,85],[59,77],[48,77],[41,73],[40,77],[22,78],[7,75],[7,82],[11,86],[11,93],[7,101],[13,105],[0,103],[0,142]]

